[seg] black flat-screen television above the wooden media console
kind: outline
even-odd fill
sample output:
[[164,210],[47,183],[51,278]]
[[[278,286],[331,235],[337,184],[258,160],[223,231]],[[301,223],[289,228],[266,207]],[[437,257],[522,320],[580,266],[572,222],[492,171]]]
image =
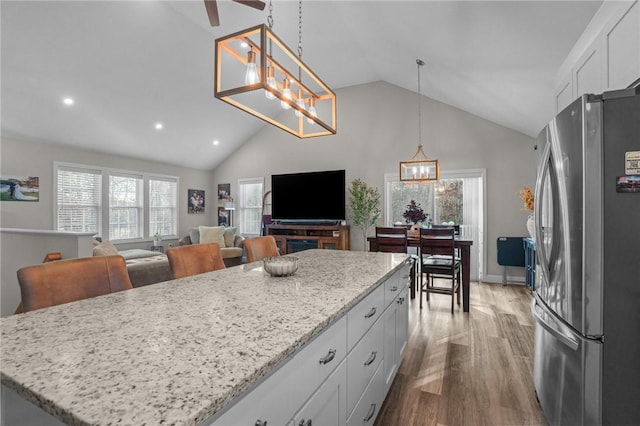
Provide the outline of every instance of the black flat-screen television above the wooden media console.
[[345,171],[272,175],[271,203],[275,221],[345,220]]

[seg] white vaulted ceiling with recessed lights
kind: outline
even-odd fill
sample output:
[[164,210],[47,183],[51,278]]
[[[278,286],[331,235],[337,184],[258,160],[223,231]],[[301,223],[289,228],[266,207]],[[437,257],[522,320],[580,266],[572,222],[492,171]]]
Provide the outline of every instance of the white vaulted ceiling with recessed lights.
[[[416,91],[421,58],[423,95],[535,136],[601,3],[304,0],[303,59],[334,90]],[[215,168],[265,123],[214,98],[214,40],[265,23],[268,9],[218,8],[211,28],[202,0],[3,0],[2,137]],[[273,18],[296,51],[298,3],[274,1]]]

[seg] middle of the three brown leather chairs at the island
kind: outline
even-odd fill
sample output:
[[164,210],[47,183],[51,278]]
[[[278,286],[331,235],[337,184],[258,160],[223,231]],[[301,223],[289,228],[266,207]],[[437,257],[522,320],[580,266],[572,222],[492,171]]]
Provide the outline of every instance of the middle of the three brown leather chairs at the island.
[[167,249],[173,279],[225,269],[220,245],[190,244]]

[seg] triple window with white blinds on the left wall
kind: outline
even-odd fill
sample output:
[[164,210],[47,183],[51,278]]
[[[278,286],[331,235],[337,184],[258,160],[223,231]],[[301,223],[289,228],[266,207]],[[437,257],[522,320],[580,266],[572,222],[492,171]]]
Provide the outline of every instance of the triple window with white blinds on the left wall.
[[75,164],[55,164],[58,230],[109,240],[178,233],[178,178]]

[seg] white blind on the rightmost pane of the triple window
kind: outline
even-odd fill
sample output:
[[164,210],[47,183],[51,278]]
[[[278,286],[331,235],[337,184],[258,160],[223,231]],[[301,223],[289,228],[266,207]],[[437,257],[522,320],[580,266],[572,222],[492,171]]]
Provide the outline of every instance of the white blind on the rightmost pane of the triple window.
[[149,180],[149,237],[178,234],[178,182]]

